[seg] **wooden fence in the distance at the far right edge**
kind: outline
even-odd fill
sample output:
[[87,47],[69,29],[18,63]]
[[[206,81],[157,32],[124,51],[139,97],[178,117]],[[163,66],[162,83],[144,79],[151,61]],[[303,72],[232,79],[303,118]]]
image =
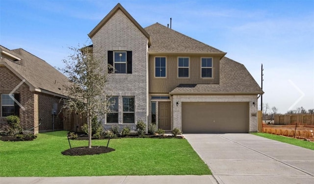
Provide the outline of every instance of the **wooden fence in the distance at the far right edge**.
[[278,125],[293,125],[293,124],[302,124],[302,125],[314,125],[314,114],[305,114],[305,115],[275,115],[274,117],[275,124]]

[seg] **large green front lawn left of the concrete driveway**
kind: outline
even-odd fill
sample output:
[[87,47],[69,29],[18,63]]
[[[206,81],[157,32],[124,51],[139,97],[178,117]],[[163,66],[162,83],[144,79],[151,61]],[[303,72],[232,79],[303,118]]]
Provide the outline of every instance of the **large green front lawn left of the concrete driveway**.
[[[0,141],[0,176],[209,175],[208,166],[186,139],[117,138],[115,151],[64,156],[69,149],[65,131],[38,134],[33,141]],[[88,141],[70,140],[72,147]],[[105,146],[107,140],[93,140]]]

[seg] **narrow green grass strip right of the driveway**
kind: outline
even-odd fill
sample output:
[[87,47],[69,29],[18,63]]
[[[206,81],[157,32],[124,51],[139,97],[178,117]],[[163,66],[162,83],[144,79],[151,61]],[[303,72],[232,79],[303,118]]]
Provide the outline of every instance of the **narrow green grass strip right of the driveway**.
[[288,138],[288,137],[284,137],[284,136],[277,136],[277,135],[268,134],[268,133],[252,133],[252,134],[256,135],[256,136],[261,136],[263,138],[269,138],[269,139],[277,140],[280,142],[286,142],[288,144],[293,144],[296,146],[300,146],[300,147],[314,150],[314,142],[305,141],[305,140],[301,140],[301,139],[295,139],[295,138]]

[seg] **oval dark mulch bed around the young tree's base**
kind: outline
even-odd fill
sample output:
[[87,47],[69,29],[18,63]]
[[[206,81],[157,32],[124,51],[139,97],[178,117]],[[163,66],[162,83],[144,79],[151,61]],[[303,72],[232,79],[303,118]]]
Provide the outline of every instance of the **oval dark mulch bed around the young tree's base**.
[[62,155],[70,155],[70,156],[82,156],[82,155],[99,155],[103,153],[109,153],[115,151],[113,148],[107,148],[106,146],[92,146],[92,148],[88,148],[88,146],[83,147],[75,147],[68,150],[65,150]]

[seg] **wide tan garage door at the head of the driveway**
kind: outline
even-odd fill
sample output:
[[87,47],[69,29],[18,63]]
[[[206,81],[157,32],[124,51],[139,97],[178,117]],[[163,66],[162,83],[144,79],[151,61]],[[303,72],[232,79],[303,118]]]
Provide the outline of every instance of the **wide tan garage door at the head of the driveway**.
[[183,133],[247,133],[248,102],[183,102]]

